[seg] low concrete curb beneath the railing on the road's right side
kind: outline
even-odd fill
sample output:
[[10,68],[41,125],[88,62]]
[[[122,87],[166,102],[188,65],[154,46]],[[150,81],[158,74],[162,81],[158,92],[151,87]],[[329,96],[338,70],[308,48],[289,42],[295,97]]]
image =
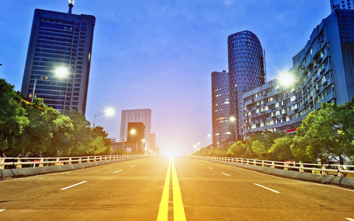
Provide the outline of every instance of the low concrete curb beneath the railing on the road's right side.
[[[195,158],[195,157],[192,157],[192,158]],[[240,168],[247,168],[250,170],[256,170],[259,172],[263,172],[265,174],[278,175],[281,177],[292,178],[292,179],[296,179],[296,180],[314,181],[314,182],[321,182],[323,184],[333,184],[333,185],[354,188],[354,178],[345,177],[345,176],[332,176],[332,175],[321,175],[321,174],[312,174],[312,173],[301,173],[301,172],[291,171],[291,170],[281,170],[281,169],[274,169],[274,168],[270,168],[270,167],[261,167],[261,166],[256,166],[253,164],[219,161],[219,160],[205,159],[205,158],[199,158],[199,157],[197,159],[202,159],[202,160],[214,162],[214,163],[234,165],[234,166],[240,167]]]

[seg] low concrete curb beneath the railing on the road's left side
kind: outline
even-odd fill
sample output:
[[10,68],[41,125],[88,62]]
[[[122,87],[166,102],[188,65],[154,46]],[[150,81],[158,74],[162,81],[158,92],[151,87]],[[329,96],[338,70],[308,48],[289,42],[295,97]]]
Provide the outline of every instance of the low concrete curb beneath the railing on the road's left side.
[[[146,156],[146,157],[150,157],[150,156]],[[103,164],[130,161],[132,159],[139,159],[139,158],[145,158],[145,156],[123,158],[123,159],[109,159],[105,161],[95,161],[95,162],[86,162],[86,163],[65,164],[65,165],[58,165],[58,166],[3,169],[0,170],[0,180],[7,180],[11,178],[20,178],[24,176],[32,176],[32,175],[39,175],[39,174],[46,174],[46,173],[63,172],[68,170],[83,169],[83,168],[95,167]]]

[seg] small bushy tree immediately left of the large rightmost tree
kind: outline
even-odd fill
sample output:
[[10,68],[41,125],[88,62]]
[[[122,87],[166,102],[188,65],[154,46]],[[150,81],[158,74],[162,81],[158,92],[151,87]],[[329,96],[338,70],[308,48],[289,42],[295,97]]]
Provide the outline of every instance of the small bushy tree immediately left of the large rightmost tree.
[[289,161],[294,159],[292,155],[290,145],[292,144],[292,135],[287,135],[283,138],[274,140],[274,144],[268,150],[268,153],[274,154],[279,161]]

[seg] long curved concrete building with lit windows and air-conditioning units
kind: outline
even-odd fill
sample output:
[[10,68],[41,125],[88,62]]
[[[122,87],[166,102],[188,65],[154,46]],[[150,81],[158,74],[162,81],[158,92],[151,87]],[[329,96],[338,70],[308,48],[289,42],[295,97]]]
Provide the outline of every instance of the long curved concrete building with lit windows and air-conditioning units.
[[306,45],[292,57],[286,72],[297,82],[280,78],[242,96],[247,138],[260,131],[295,132],[321,102],[343,104],[354,97],[354,11],[337,9],[313,30]]

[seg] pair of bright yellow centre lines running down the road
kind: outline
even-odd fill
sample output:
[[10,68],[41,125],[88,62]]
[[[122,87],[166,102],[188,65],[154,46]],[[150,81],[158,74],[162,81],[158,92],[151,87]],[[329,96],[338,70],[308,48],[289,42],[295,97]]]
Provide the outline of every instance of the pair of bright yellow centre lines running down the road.
[[172,194],[173,194],[173,220],[185,221],[185,213],[182,202],[181,190],[179,189],[179,183],[176,173],[175,164],[172,157],[170,158],[169,167],[167,169],[166,180],[164,190],[162,191],[162,197],[160,202],[159,214],[157,221],[166,221],[169,213],[169,187],[171,176],[171,162],[172,162]]

